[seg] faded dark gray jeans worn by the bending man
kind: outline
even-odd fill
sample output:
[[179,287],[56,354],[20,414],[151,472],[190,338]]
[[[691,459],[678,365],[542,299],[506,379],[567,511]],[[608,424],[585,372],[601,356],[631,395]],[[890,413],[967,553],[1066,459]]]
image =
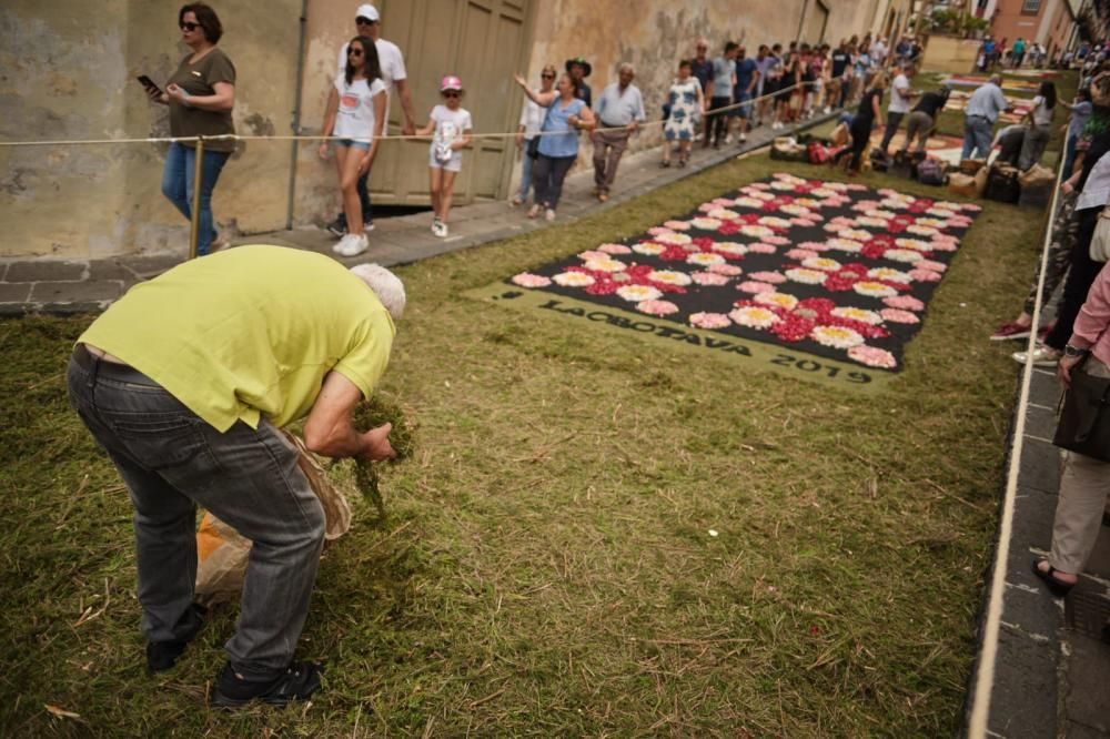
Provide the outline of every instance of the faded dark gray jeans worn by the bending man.
[[268,422],[221,434],[131,367],[78,346],[70,403],[131,493],[142,631],[188,640],[196,579],[196,506],[251,539],[239,629],[228,659],[249,679],[293,658],[324,541],[324,512],[296,452]]

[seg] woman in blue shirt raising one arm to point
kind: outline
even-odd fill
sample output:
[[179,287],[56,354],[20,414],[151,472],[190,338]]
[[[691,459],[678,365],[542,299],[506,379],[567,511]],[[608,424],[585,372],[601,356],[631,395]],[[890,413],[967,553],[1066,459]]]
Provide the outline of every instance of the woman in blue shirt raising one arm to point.
[[519,74],[514,79],[524,94],[547,109],[543,125],[539,126],[539,155],[532,166],[535,205],[528,211],[528,217],[536,217],[539,210],[544,209],[544,217],[554,221],[555,209],[563,194],[563,180],[578,158],[578,131],[594,129],[594,113],[575,97],[575,84],[569,74],[561,75],[552,92],[529,90],[527,80]]

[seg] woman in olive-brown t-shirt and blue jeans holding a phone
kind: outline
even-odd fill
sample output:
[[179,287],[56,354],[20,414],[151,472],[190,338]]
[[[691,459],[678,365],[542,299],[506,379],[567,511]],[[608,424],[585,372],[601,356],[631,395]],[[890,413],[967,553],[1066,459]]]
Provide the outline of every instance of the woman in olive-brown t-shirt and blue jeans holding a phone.
[[[150,99],[170,107],[170,134],[173,136],[234,134],[235,124],[231,120],[231,110],[235,105],[235,65],[216,47],[223,36],[220,18],[203,2],[191,2],[178,11],[178,27],[181,29],[181,40],[189,47],[190,53],[170,77],[165,92],[154,87],[148,88]],[[204,142],[198,255],[228,245],[226,240],[218,237],[215,233],[212,191],[234,149],[235,142],[232,140]],[[162,194],[190,220],[193,212],[195,162],[196,144],[192,141],[174,141],[165,154],[165,170],[162,173]]]

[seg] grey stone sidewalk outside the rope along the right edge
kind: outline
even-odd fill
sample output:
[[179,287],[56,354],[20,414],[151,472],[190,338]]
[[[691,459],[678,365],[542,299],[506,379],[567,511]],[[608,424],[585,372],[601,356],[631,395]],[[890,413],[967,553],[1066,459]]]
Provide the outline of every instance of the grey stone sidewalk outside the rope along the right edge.
[[[1017,342],[1015,348],[1021,348]],[[1059,398],[1056,374],[1035,370],[1006,565],[991,737],[1110,738],[1110,645],[1100,640],[1110,617],[1110,527],[1102,526],[1087,571],[1066,599],[1053,598],[1030,569],[1052,543]]]

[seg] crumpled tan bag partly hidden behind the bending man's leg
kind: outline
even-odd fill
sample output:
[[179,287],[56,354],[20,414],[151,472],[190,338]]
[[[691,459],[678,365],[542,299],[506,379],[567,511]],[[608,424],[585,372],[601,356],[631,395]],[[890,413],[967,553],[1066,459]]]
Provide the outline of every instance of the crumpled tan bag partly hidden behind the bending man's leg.
[[[324,508],[324,539],[337,539],[351,529],[351,507],[346,498],[332,485],[304,442],[284,429],[282,434],[296,449],[296,465]],[[196,532],[196,603],[211,608],[239,597],[250,554],[250,539],[205,512]]]

